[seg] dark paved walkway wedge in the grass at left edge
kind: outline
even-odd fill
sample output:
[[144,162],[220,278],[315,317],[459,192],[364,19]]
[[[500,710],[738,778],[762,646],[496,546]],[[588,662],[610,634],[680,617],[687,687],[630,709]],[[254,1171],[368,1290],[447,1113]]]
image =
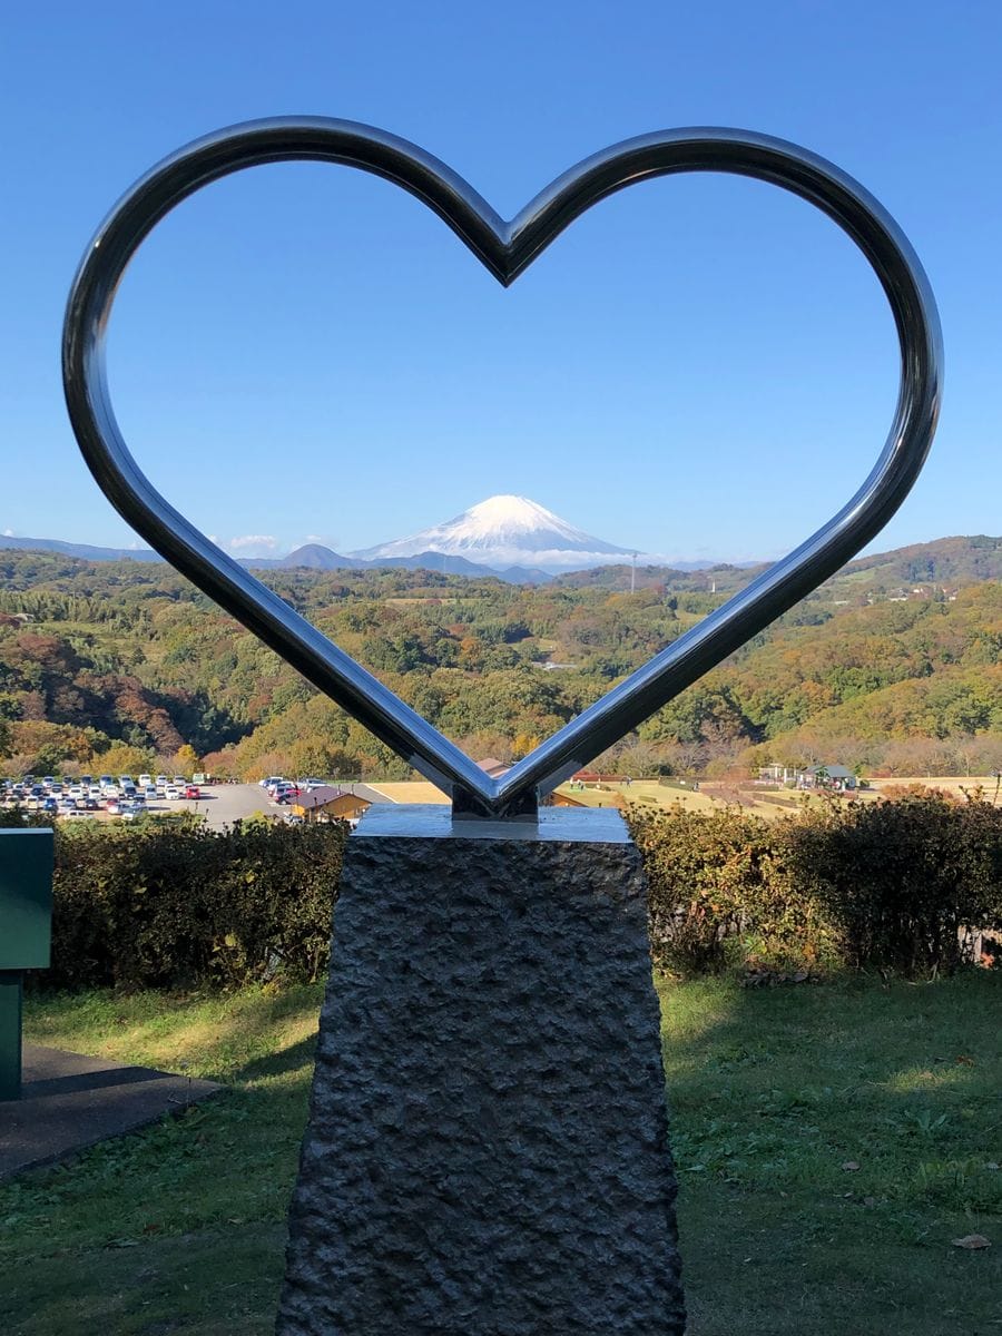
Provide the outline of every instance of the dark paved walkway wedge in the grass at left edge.
[[21,1098],[0,1102],[0,1181],[158,1122],[220,1089],[35,1043],[24,1045],[23,1073]]

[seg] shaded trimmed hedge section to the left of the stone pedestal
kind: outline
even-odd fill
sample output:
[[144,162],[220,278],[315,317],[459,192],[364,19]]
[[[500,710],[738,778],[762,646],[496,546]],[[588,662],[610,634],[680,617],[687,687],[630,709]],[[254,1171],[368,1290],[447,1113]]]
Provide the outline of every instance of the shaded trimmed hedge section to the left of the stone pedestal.
[[326,967],[345,827],[61,827],[49,987],[187,987]]

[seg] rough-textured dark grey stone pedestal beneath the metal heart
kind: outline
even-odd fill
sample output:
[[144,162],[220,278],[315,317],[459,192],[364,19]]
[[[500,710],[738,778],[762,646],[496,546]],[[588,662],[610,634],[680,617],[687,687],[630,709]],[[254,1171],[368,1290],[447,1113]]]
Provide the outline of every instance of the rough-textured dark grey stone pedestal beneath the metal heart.
[[279,1336],[683,1332],[645,883],[604,815],[353,835]]

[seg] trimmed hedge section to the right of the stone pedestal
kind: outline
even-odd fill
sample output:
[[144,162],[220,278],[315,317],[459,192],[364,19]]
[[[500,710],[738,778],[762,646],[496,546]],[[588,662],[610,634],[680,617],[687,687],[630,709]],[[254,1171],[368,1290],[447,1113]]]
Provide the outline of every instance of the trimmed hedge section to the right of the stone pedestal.
[[949,971],[1002,930],[1002,808],[931,792],[763,822],[631,808],[655,959]]

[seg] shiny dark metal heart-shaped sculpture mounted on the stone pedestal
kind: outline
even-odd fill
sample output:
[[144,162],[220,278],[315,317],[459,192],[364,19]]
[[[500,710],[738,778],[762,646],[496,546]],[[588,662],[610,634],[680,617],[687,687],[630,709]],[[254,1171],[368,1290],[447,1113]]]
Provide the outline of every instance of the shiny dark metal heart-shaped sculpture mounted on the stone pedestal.
[[[872,472],[790,556],[501,779],[489,779],[454,743],[168,505],[136,466],[115,421],[104,333],[115,291],[139,244],[175,204],[202,186],[243,167],[291,159],[358,167],[403,187],[434,210],[505,286],[587,208],[651,176],[723,171],[756,176],[800,195],[828,214],[863,251],[898,327],[898,405]],[[935,302],[894,219],[824,159],[783,140],[736,130],[671,130],[629,139],[585,159],[505,222],[444,163],[385,131],[319,116],[234,126],[159,163],[115,206],[81,261],[63,331],[63,379],[73,432],[119,513],[178,570],[452,794],[457,811],[485,816],[534,811],[537,795],[628,733],[859,552],[898,509],[925,462],[938,415],[941,363]]]

